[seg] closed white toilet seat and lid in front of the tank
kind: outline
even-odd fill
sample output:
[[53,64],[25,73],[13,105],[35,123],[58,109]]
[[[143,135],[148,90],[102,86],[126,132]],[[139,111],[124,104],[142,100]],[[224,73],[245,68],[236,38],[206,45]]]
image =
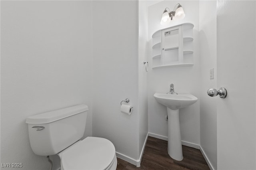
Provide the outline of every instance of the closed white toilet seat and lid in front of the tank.
[[61,153],[63,170],[107,170],[116,163],[115,147],[105,138],[87,137]]

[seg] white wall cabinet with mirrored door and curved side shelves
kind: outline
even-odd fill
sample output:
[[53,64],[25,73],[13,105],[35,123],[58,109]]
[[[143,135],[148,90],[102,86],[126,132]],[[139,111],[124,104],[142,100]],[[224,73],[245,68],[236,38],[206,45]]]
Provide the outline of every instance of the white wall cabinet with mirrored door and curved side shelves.
[[185,23],[156,31],[152,35],[152,69],[194,65],[193,28]]

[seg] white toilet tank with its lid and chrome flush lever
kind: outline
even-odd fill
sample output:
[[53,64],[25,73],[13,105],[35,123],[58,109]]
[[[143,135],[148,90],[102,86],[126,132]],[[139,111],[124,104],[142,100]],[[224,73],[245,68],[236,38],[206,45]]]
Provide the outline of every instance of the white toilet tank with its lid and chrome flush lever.
[[33,152],[40,156],[54,155],[82,138],[87,111],[88,106],[82,104],[28,117]]

